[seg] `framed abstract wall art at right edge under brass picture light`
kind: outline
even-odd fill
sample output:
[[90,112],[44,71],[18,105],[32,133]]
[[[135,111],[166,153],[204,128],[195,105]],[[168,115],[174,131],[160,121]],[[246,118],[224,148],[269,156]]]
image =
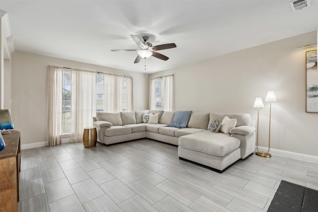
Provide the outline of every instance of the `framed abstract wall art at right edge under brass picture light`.
[[317,50],[306,52],[306,112],[318,113]]

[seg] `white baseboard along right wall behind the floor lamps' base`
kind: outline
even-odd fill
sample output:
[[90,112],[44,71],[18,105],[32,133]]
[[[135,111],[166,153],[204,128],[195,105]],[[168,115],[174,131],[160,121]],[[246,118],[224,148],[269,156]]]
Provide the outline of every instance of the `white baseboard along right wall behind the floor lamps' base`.
[[[259,151],[267,151],[267,147],[263,146],[258,146]],[[256,146],[255,146],[255,151],[256,151]],[[309,154],[302,154],[302,153],[297,153],[297,152],[292,152],[292,151],[285,151],[285,150],[280,150],[280,149],[273,149],[271,148],[269,153],[271,155],[276,155],[280,157],[287,157],[295,160],[302,160],[306,162],[311,162],[311,163],[318,163],[318,156],[315,155],[309,155]]]

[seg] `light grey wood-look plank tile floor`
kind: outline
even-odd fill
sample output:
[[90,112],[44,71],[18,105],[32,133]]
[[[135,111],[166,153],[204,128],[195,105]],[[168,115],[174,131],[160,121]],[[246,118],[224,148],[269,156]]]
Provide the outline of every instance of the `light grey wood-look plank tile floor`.
[[318,190],[318,164],[251,155],[223,174],[142,139],[21,151],[20,212],[265,212],[286,180]]

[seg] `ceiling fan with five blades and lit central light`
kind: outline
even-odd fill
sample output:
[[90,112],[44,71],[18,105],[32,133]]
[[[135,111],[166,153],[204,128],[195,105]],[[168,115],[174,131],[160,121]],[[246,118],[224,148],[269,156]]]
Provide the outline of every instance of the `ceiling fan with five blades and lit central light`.
[[153,44],[148,42],[149,37],[143,36],[143,39],[140,39],[137,35],[130,35],[132,39],[135,41],[135,43],[138,45],[138,49],[115,49],[110,50],[112,52],[121,52],[121,51],[137,51],[138,56],[135,60],[135,64],[139,63],[141,59],[149,58],[150,56],[153,56],[155,58],[158,58],[160,60],[168,60],[169,58],[158,53],[155,51],[164,50],[164,49],[171,49],[177,47],[174,43],[168,43],[168,44],[162,44],[158,46],[153,46]]

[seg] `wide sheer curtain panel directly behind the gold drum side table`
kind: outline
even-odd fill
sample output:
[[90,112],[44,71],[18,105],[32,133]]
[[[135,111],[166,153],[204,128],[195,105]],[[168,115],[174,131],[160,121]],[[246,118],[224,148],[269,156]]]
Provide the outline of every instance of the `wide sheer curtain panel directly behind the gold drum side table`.
[[71,142],[82,141],[83,128],[96,116],[96,72],[72,69]]

